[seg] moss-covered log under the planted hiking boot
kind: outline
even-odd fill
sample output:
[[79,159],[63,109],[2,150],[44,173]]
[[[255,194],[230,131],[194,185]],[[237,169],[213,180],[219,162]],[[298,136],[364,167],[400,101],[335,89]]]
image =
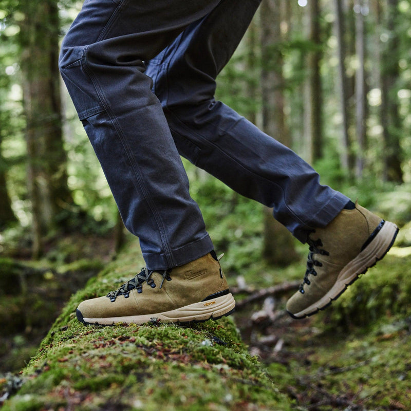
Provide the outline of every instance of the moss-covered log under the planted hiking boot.
[[191,326],[79,323],[79,302],[124,281],[135,269],[130,255],[71,297],[3,411],[295,409],[249,355],[231,317]]

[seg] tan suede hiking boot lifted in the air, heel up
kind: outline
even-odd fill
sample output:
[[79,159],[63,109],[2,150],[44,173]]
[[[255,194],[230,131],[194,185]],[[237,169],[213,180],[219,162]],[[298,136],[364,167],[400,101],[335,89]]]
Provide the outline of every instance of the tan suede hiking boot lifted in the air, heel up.
[[304,282],[287,302],[287,311],[302,319],[331,304],[384,257],[394,244],[397,226],[356,203],[342,210],[327,227],[308,236],[310,252]]

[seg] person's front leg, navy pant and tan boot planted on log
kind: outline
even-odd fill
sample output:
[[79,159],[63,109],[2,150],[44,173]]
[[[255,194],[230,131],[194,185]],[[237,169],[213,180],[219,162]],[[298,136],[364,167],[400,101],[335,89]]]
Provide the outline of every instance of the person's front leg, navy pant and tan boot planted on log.
[[218,3],[87,0],[63,42],[63,79],[148,267],[81,303],[82,322],[202,321],[235,305],[143,63]]

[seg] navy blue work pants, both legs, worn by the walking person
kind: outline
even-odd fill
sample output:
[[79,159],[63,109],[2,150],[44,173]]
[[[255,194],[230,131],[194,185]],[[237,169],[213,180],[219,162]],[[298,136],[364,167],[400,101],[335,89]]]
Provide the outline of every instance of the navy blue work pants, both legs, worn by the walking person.
[[[147,267],[213,249],[179,155],[274,208],[301,241],[349,200],[312,167],[215,101],[215,78],[259,0],[86,0],[60,70]],[[154,91],[154,92],[153,92]]]

